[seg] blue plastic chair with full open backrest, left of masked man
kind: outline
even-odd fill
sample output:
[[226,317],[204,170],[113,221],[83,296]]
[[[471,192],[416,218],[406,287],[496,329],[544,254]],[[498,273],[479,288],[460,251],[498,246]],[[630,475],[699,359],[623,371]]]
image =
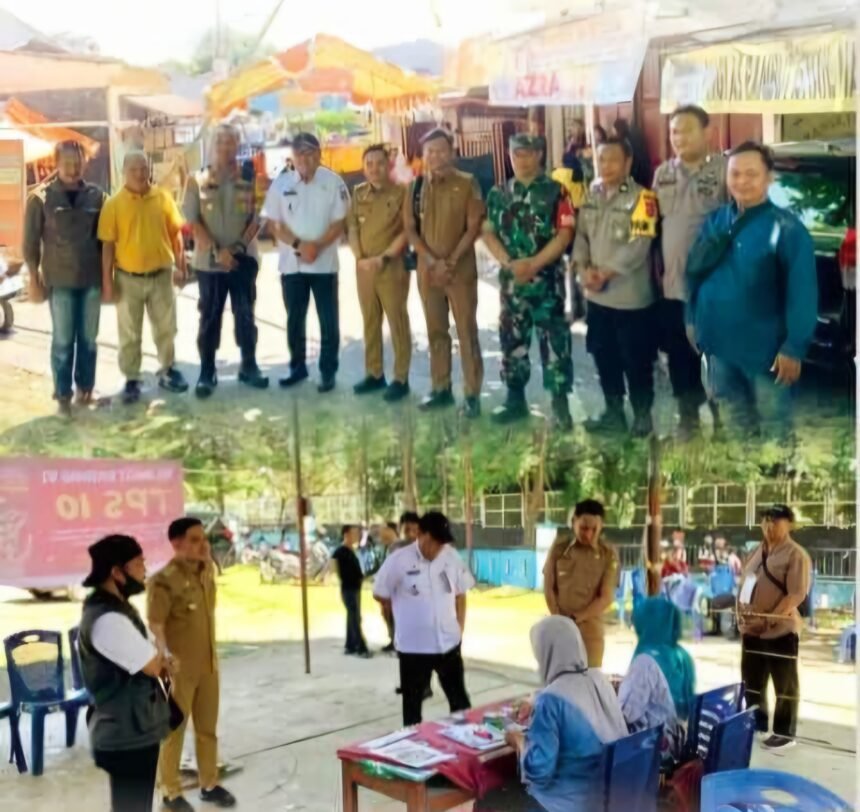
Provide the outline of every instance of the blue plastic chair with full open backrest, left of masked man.
[[30,759],[33,775],[41,775],[45,764],[45,717],[66,715],[66,747],[73,747],[78,714],[89,704],[86,691],[66,693],[63,679],[63,647],[60,632],[19,632],[3,641],[6,668],[12,690],[12,712],[31,716]]

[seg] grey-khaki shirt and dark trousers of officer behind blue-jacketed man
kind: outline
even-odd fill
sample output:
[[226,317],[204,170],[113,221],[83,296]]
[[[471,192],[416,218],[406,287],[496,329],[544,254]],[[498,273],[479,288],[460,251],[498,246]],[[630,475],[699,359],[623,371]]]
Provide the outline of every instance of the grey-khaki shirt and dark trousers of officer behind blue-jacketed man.
[[702,362],[687,340],[684,325],[687,257],[705,218],[728,201],[726,159],[720,154],[708,155],[698,169],[690,171],[673,158],[657,168],[653,186],[660,205],[663,265],[660,347],[669,356],[669,377],[682,426],[692,428],[698,424],[705,391]]

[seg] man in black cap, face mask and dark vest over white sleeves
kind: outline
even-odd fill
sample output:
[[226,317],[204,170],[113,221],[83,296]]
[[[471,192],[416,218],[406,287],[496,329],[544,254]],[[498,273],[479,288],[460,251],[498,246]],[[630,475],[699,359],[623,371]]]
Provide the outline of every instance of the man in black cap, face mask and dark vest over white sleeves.
[[168,662],[150,640],[129,598],[144,590],[143,550],[130,536],[108,536],[90,549],[80,626],[84,684],[93,698],[88,720],[96,766],[110,776],[115,812],[151,812],[161,741],[170,732],[158,678]]

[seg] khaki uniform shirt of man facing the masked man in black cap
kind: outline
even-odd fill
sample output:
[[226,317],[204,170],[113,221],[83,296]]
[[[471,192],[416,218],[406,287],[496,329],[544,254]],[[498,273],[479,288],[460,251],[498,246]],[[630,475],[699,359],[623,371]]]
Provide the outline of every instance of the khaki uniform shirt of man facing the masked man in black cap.
[[214,674],[215,565],[174,559],[147,582],[150,625],[164,626],[179,674]]

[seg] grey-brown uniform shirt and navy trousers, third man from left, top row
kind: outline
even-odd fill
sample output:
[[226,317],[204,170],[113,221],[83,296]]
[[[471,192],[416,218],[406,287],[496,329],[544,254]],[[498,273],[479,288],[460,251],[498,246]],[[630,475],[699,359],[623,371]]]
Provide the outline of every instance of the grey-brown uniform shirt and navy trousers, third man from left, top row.
[[[184,208],[186,219],[201,223],[214,240],[211,248],[195,245],[191,261],[200,289],[197,348],[201,382],[215,383],[215,353],[221,344],[221,323],[229,294],[236,344],[242,353],[240,378],[248,383],[253,379],[255,385],[262,386],[266,379],[260,378],[257,368],[254,324],[259,254],[256,241],[248,245],[243,242],[256,212],[254,181],[242,178],[238,168],[223,178],[206,169],[189,179]],[[229,270],[218,263],[217,253],[223,248],[239,256],[238,267]]]

